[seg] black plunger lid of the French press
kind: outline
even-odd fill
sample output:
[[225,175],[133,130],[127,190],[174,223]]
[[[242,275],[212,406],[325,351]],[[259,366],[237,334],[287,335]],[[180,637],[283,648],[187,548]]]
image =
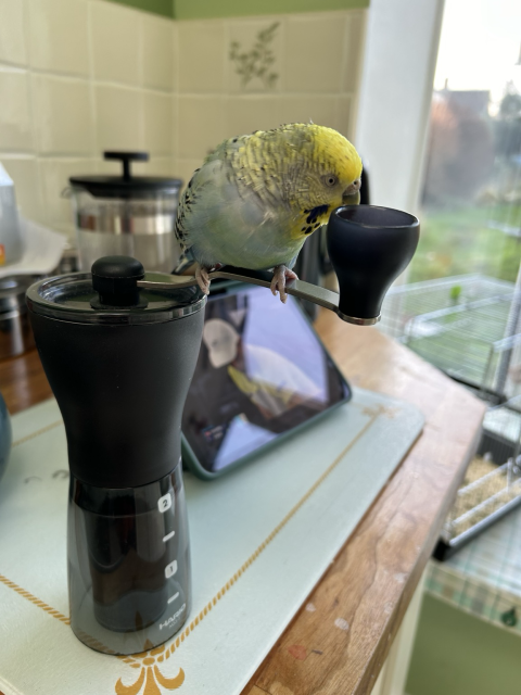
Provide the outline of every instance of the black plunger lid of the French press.
[[149,198],[161,193],[177,193],[182,186],[180,178],[132,176],[130,162],[148,162],[148,152],[104,152],[105,160],[123,163],[122,176],[72,176],[74,188],[85,189],[94,198]]

